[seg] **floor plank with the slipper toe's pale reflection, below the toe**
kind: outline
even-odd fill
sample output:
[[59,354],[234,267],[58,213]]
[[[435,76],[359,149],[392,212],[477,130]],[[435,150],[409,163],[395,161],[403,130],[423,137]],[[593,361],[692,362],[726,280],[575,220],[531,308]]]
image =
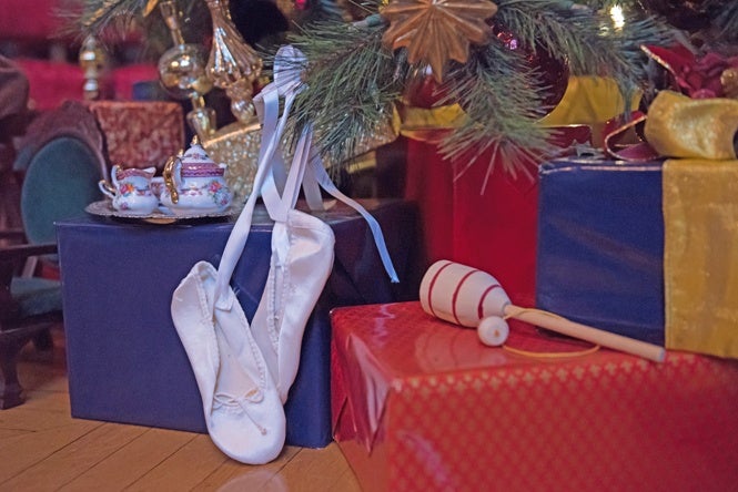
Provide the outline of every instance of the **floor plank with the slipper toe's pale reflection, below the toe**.
[[262,490],[300,451],[300,448],[287,445],[276,460],[259,467],[229,459],[193,491],[240,492]]

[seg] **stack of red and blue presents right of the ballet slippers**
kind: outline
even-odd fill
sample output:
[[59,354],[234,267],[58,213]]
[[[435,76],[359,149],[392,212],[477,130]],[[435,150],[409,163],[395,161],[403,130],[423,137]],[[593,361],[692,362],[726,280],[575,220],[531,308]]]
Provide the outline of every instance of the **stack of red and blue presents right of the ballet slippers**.
[[[597,98],[593,82],[574,81],[575,100]],[[663,91],[638,116],[648,145],[615,144],[616,126],[610,152],[496,173],[485,193],[486,163],[454,181],[466,161],[408,144],[429,262],[667,353],[590,352],[522,324],[487,347],[419,301],[336,309],[334,437],[366,490],[736,486],[738,101]]]

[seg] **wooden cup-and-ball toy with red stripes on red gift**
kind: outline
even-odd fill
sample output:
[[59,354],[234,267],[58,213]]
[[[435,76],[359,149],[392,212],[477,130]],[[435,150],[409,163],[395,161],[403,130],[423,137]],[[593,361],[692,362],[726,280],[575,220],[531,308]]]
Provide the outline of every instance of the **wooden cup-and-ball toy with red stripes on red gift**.
[[507,339],[509,327],[505,319],[512,317],[657,362],[663,362],[666,357],[664,347],[569,321],[550,312],[517,307],[495,277],[447,259],[431,265],[421,281],[419,297],[425,312],[476,328],[482,342],[493,347]]

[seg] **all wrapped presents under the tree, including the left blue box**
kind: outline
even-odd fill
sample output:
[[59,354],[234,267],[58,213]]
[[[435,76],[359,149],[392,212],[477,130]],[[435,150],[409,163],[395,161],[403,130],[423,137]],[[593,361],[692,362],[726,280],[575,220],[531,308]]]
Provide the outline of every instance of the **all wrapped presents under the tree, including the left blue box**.
[[[611,115],[575,121],[562,139],[590,142],[595,120]],[[738,101],[663,91],[644,120],[629,129],[645,135],[643,153],[613,136],[609,154],[563,156],[532,175],[499,165],[488,175],[483,156],[455,180],[467,161],[411,140],[405,199],[367,204],[400,286],[384,278],[361,217],[327,216],[336,263],[305,331],[287,444],[335,440],[365,490],[735,490]],[[247,316],[269,267],[270,229],[255,224],[254,259],[234,275]],[[196,258],[218,260],[230,227],[59,225],[74,416],[204,431],[169,296]],[[172,255],[152,265],[151,250]],[[593,349],[522,322],[504,346],[485,346],[418,301],[438,259],[494,275],[515,305],[663,346],[666,357]],[[141,298],[137,275],[171,290],[146,291],[135,309],[101,307],[111,288]]]

